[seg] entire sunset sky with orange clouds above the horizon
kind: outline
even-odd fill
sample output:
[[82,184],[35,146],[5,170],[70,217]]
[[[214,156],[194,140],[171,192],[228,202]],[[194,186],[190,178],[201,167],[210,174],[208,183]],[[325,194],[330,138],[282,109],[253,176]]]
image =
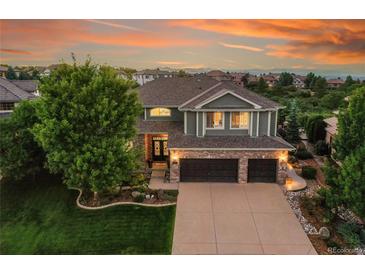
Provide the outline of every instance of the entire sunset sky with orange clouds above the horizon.
[[365,74],[365,20],[0,20],[11,65],[79,60],[136,69]]

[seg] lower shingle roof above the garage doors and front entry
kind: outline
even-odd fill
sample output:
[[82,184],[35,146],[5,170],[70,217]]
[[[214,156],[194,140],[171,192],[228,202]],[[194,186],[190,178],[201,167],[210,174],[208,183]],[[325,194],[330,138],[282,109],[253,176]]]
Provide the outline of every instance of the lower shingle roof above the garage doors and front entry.
[[280,137],[272,136],[205,136],[184,135],[184,124],[172,121],[139,121],[139,133],[168,133],[170,149],[294,149]]

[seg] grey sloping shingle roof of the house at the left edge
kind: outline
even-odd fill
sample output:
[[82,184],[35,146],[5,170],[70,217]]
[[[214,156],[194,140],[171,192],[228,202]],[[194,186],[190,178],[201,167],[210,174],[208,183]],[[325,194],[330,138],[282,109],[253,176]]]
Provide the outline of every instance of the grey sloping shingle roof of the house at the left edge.
[[35,97],[11,81],[0,77],[0,102],[17,102]]

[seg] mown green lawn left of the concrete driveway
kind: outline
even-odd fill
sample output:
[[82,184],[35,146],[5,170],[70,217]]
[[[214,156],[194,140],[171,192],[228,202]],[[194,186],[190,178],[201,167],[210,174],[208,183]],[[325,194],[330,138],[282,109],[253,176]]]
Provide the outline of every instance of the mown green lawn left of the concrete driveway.
[[170,254],[175,206],[76,207],[58,178],[3,182],[0,254]]

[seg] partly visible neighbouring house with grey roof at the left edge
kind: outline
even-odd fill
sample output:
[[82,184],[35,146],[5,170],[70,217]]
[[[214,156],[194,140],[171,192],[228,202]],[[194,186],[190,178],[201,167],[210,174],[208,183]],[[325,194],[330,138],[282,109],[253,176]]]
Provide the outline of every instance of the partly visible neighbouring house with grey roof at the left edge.
[[[9,116],[14,107],[21,100],[28,100],[35,98],[31,84],[28,80],[27,83],[21,83],[23,80],[10,81],[4,78],[0,78],[0,117]],[[28,89],[29,91],[25,90]]]

